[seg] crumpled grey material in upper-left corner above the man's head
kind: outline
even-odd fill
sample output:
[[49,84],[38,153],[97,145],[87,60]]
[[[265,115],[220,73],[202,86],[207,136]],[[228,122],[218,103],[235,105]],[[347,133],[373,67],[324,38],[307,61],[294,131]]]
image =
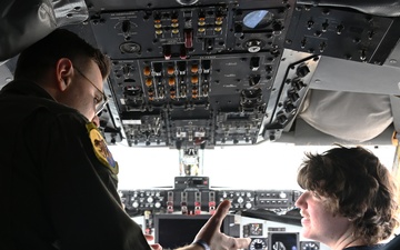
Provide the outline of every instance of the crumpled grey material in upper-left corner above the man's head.
[[87,20],[89,12],[83,0],[1,0],[0,16],[0,61],[4,61],[54,29]]

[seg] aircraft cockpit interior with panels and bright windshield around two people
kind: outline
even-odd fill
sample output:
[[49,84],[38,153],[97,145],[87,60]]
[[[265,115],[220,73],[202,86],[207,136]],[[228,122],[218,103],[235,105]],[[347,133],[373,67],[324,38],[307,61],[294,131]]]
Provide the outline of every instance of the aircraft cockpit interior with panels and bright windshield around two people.
[[[299,234],[303,151],[361,144],[398,171],[398,0],[0,7],[0,88],[19,52],[57,28],[111,59],[100,130],[120,163],[126,211],[164,249],[190,243],[229,199],[221,230],[251,237],[250,250],[327,250]],[[188,239],[177,224],[190,224]]]

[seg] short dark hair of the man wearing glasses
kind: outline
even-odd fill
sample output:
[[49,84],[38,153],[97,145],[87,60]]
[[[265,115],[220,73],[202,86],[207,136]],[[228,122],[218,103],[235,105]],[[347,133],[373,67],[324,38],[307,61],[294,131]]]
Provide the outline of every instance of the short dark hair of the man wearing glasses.
[[20,53],[14,79],[38,80],[54,67],[60,58],[69,58],[80,68],[84,68],[83,63],[93,60],[103,79],[110,73],[110,59],[99,49],[70,30],[57,29]]

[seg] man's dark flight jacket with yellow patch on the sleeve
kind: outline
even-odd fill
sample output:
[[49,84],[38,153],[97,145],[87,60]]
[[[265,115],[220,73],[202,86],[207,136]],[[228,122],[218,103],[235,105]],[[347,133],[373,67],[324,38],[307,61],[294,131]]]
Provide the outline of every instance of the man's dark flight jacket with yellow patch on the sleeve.
[[150,249],[93,123],[29,81],[1,90],[0,113],[0,249]]

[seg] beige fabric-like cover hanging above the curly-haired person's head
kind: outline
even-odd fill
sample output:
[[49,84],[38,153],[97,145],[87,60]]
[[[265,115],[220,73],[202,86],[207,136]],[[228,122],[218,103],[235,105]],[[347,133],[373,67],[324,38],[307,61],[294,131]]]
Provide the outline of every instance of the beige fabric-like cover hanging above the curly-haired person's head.
[[392,122],[388,94],[309,91],[299,117],[332,137],[364,142],[378,137]]

